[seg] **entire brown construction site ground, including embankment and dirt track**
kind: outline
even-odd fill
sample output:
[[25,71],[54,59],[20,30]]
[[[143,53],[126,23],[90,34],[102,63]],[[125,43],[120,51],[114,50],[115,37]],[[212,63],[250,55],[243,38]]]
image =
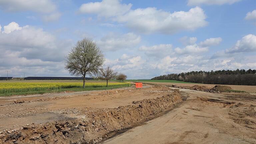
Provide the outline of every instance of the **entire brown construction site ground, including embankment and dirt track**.
[[1,97],[0,131],[3,143],[251,144],[256,95],[144,85]]

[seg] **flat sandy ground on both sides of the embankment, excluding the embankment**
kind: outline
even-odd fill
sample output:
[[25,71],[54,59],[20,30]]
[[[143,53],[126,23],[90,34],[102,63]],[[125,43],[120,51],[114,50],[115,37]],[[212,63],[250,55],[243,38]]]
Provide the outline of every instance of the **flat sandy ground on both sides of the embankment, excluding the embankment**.
[[[171,89],[174,88],[146,85],[142,89],[1,97],[0,131],[19,129],[31,123],[69,121],[90,109],[116,108],[118,111],[119,106],[131,105],[136,103],[134,101],[171,94]],[[256,144],[255,94],[179,90],[185,101],[176,108],[101,143]]]

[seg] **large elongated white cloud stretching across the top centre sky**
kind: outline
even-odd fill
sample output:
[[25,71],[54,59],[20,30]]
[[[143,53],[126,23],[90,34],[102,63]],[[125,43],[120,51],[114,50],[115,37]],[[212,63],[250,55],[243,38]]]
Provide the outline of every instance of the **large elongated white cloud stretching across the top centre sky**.
[[121,4],[120,0],[102,0],[82,4],[81,13],[97,14],[98,17],[111,17],[111,20],[142,33],[173,34],[179,31],[192,31],[208,24],[204,10],[200,7],[189,11],[173,13],[155,7],[131,10],[132,4]]

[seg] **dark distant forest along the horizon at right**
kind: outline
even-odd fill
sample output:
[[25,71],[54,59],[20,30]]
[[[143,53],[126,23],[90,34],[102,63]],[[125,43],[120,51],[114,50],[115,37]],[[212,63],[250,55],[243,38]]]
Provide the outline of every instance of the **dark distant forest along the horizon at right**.
[[179,80],[203,84],[256,85],[256,70],[191,71],[180,74],[161,75],[152,80]]

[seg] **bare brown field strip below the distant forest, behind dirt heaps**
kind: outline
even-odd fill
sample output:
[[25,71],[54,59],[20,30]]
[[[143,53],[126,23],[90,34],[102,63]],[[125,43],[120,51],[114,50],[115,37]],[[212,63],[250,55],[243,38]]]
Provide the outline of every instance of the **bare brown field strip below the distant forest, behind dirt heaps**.
[[[207,86],[208,88],[213,88],[215,84],[189,84],[189,83],[159,83],[159,82],[147,82],[151,84],[160,84],[160,85],[180,85],[184,86],[185,88],[192,87],[194,85],[201,85],[201,86]],[[246,91],[249,93],[256,93],[256,86],[243,86],[243,85],[226,85],[230,86],[233,90],[240,90],[240,91]]]

